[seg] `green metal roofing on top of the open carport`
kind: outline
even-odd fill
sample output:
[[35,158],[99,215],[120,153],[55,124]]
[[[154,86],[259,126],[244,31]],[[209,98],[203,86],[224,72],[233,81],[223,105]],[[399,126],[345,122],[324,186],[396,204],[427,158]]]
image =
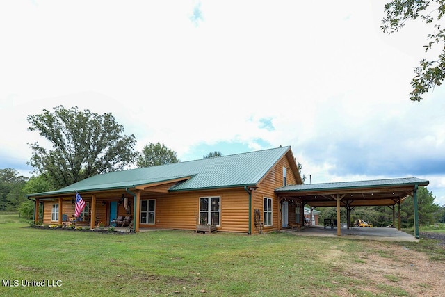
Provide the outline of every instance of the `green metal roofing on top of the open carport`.
[[328,182],[323,184],[297,184],[293,186],[283,186],[275,189],[275,192],[298,192],[298,191],[329,191],[339,189],[353,189],[353,188],[378,188],[387,186],[428,186],[430,182],[426,179],[419,179],[417,177],[404,177],[396,179],[375,179],[357,182]]

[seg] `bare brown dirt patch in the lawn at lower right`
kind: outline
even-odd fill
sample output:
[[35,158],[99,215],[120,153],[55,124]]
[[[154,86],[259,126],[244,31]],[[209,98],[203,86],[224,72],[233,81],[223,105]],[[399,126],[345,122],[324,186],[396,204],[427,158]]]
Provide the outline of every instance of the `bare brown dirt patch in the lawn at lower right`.
[[[434,261],[424,252],[378,241],[369,241],[347,268],[357,288],[380,296],[445,296],[445,261]],[[345,293],[345,292],[343,292]],[[350,296],[350,292],[340,296]]]

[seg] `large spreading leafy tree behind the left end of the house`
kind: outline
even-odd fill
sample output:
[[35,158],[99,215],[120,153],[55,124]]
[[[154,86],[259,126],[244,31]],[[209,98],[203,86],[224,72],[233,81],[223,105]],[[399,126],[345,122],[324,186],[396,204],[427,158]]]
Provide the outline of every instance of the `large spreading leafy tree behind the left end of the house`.
[[122,170],[134,161],[136,138],[123,135],[124,128],[111,113],[98,115],[77,107],[44,109],[42,114],[28,115],[30,131],[39,131],[52,150],[31,144],[29,164],[56,188],[104,172]]

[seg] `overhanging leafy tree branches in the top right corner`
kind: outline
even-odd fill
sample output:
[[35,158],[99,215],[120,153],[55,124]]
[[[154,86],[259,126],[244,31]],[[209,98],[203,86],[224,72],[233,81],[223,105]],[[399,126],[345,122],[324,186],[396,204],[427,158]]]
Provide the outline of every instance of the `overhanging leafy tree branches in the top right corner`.
[[[430,4],[432,6],[430,7]],[[427,11],[428,8],[428,11]],[[445,78],[445,29],[441,27],[442,16],[445,13],[443,0],[394,0],[385,4],[387,17],[382,19],[381,29],[384,33],[394,33],[402,29],[409,19],[420,19],[426,24],[433,24],[433,33],[428,34],[428,44],[423,45],[425,51],[432,49],[433,45],[442,45],[442,51],[437,60],[420,61],[420,66],[414,70],[414,77],[411,81],[412,91],[410,99],[420,101],[421,95],[428,92],[430,88],[440,86]]]

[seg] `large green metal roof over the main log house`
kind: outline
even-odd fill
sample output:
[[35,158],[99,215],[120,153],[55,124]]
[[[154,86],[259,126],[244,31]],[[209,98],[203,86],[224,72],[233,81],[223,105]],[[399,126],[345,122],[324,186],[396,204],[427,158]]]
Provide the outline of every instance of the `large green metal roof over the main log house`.
[[277,147],[210,159],[110,172],[83,179],[81,182],[57,191],[35,193],[28,196],[38,197],[74,193],[75,191],[81,193],[134,188],[140,185],[168,182],[169,180],[185,177],[191,178],[178,183],[169,191],[256,186],[289,150],[291,150],[291,147]]

